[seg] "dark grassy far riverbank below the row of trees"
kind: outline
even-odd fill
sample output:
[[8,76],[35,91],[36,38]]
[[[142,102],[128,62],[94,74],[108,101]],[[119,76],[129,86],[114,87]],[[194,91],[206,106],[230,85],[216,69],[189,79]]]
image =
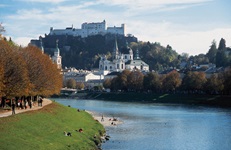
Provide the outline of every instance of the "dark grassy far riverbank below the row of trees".
[[168,104],[193,104],[219,107],[231,107],[230,95],[207,94],[167,94],[167,93],[87,93],[85,99],[98,99],[106,101],[142,102],[142,103],[168,103]]

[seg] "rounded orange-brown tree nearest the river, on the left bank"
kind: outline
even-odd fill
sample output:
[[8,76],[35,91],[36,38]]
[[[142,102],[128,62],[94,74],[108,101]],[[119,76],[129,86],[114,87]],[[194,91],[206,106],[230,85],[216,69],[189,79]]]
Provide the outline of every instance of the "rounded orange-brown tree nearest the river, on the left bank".
[[27,62],[29,70],[31,87],[29,94],[32,96],[58,94],[62,88],[62,75],[49,56],[31,45],[21,49],[20,54]]

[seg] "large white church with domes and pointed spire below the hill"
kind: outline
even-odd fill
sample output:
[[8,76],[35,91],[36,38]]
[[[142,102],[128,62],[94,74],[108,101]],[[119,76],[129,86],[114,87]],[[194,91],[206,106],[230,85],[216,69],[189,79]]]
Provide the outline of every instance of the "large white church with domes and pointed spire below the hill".
[[140,59],[138,50],[136,51],[133,59],[133,51],[130,47],[128,47],[128,44],[127,53],[120,53],[117,41],[115,40],[115,47],[112,52],[112,61],[107,60],[105,55],[101,56],[99,61],[99,72],[102,75],[107,75],[111,72],[122,72],[125,69],[130,71],[138,69],[140,71],[148,72],[149,65]]

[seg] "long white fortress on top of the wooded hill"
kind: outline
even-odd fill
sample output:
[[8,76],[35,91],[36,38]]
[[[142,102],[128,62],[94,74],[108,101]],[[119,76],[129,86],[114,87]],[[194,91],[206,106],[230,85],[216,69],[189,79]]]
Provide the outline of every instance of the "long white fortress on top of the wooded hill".
[[49,35],[73,35],[81,36],[82,38],[88,37],[91,35],[105,35],[107,33],[126,35],[125,24],[121,24],[121,27],[107,27],[106,21],[98,23],[83,23],[81,29],[75,29],[72,27],[67,27],[66,29],[53,29],[50,28]]

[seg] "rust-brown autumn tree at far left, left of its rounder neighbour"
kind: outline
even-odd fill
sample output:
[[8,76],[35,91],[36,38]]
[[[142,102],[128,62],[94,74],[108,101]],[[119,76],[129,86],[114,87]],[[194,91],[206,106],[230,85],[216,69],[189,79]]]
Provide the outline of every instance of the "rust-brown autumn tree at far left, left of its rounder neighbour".
[[8,98],[28,94],[28,70],[26,69],[26,62],[17,53],[18,48],[10,46],[6,41],[0,40],[0,50],[0,59],[4,71],[4,89],[2,93]]

